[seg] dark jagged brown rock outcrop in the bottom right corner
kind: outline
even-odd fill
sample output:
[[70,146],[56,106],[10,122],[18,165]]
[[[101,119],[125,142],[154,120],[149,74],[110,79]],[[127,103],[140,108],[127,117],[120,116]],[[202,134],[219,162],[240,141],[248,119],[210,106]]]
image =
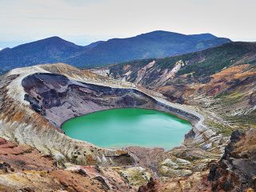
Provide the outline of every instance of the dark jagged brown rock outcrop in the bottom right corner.
[[256,190],[256,131],[235,130],[221,160],[210,167],[214,191]]

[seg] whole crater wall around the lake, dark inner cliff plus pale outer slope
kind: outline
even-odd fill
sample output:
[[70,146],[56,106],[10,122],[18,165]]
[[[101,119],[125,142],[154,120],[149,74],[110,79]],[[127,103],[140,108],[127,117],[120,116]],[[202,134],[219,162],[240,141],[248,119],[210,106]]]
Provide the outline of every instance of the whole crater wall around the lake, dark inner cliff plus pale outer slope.
[[98,86],[51,74],[40,66],[18,69],[0,82],[0,135],[34,146],[43,154],[62,154],[83,165],[129,165],[134,159],[124,150],[103,149],[62,134],[69,118],[98,110],[138,107],[177,114],[193,124],[198,117],[158,102],[131,88]]

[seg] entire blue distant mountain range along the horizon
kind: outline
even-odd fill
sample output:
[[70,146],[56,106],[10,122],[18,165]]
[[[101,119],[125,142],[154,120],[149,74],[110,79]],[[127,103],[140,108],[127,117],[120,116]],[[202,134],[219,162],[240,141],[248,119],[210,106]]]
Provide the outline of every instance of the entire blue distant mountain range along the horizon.
[[2,71],[42,63],[66,62],[78,67],[106,66],[142,58],[163,58],[205,50],[230,42],[213,34],[154,31],[133,38],[113,38],[78,46],[58,37],[45,38],[0,51]]

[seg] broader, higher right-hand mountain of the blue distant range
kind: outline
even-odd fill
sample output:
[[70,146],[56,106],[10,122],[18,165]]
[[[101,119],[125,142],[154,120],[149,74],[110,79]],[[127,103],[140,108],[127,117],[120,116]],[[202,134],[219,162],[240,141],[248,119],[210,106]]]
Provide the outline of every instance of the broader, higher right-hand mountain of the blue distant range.
[[230,42],[230,39],[215,38],[210,34],[186,35],[158,30],[131,38],[112,38],[93,50],[64,62],[74,66],[79,66],[79,63],[84,63],[84,66],[100,66],[138,58],[164,58],[186,54],[225,42]]

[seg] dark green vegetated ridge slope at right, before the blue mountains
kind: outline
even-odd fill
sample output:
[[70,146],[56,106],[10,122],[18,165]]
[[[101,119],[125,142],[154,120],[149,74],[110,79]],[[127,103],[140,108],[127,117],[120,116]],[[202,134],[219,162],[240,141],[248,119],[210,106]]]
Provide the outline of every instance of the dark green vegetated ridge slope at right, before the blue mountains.
[[[230,42],[189,54],[166,58],[138,59],[131,62],[122,62],[117,65],[106,66],[106,68],[110,69],[110,74],[113,75],[114,78],[124,77],[124,74],[134,68],[134,71],[130,73],[130,78],[126,78],[127,81],[133,82],[137,70],[153,61],[155,61],[154,67],[160,69],[160,71],[152,71],[151,69],[150,73],[152,74],[152,77],[158,77],[163,70],[170,69],[174,67],[176,62],[182,61],[184,62],[184,66],[178,70],[178,75],[190,74],[193,72],[194,78],[203,78],[207,75],[219,72],[224,67],[234,64],[256,63],[256,43]],[[187,62],[186,65],[185,62]],[[130,68],[125,66],[130,66]],[[153,73],[156,74],[153,75]],[[149,82],[146,83],[148,84]],[[146,86],[144,82],[142,82],[142,85]]]

